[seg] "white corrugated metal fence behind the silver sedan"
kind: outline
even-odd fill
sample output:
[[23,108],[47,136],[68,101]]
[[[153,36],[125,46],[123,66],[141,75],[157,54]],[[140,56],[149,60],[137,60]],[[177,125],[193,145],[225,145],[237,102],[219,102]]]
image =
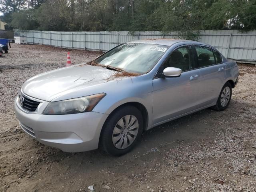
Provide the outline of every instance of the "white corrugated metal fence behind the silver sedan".
[[[53,32],[53,31],[21,31],[30,44],[52,45],[62,48],[107,51],[124,42],[148,38],[178,38],[173,32],[163,34],[160,31],[102,31],[102,32]],[[256,30],[238,32],[237,30],[205,30],[201,31],[198,41],[216,47],[226,58],[240,62],[256,64]]]

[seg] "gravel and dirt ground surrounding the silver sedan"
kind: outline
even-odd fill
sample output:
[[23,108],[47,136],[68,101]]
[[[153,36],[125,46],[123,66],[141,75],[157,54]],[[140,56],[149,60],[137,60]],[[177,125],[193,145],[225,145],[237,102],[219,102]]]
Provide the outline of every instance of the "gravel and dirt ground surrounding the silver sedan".
[[[256,191],[256,67],[240,64],[227,110],[205,109],[144,132],[121,157],[66,153],[26,135],[14,114],[24,81],[66,64],[68,50],[16,45],[0,58],[1,192]],[[72,63],[99,52],[70,50]],[[152,150],[156,148],[156,151]]]

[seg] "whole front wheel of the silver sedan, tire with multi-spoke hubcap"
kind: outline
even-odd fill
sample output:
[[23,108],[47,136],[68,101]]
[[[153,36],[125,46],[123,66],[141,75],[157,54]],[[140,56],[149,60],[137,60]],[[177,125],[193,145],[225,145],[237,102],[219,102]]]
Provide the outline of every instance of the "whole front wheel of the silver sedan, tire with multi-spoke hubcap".
[[134,106],[118,108],[105,122],[100,136],[100,148],[120,156],[136,146],[143,130],[143,118]]

